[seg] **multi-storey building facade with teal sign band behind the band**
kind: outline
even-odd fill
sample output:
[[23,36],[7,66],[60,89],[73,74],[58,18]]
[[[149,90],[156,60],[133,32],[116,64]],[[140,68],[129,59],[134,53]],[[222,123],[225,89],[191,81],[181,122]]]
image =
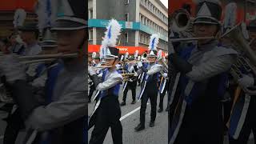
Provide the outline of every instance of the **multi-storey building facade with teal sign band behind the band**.
[[88,6],[90,45],[101,45],[107,23],[115,18],[122,25],[118,46],[147,50],[150,35],[158,34],[158,49],[167,53],[168,10],[160,0],[89,0]]

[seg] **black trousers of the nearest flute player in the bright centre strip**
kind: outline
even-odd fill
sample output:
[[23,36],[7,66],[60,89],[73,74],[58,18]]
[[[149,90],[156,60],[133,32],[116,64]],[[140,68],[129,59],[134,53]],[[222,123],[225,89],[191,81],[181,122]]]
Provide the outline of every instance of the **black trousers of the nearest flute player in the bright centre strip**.
[[109,128],[111,128],[113,143],[122,144],[122,124],[119,118],[121,118],[121,109],[118,97],[109,95],[102,98],[96,110],[96,122],[90,144],[102,144]]

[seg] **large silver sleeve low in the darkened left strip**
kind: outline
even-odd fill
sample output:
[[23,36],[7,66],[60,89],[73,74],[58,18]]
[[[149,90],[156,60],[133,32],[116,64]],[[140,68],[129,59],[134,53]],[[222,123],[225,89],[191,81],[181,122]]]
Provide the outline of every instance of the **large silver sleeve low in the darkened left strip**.
[[26,119],[26,128],[38,131],[51,130],[64,126],[87,114],[86,87],[84,79],[74,86],[65,88],[58,101],[46,106],[38,106]]

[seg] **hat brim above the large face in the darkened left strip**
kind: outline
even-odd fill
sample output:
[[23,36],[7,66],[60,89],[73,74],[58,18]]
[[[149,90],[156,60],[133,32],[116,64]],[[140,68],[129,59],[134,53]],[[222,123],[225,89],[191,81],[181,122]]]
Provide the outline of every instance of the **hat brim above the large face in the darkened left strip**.
[[82,30],[88,26],[70,20],[59,19],[54,23],[54,26],[50,30]]

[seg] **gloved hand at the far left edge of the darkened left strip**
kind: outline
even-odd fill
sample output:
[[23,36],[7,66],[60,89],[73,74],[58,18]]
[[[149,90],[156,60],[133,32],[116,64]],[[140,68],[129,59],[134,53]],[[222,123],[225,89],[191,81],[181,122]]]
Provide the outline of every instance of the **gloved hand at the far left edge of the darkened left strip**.
[[10,84],[17,80],[26,80],[26,66],[13,54],[5,55],[0,59],[0,70],[1,74],[6,76],[6,82]]

